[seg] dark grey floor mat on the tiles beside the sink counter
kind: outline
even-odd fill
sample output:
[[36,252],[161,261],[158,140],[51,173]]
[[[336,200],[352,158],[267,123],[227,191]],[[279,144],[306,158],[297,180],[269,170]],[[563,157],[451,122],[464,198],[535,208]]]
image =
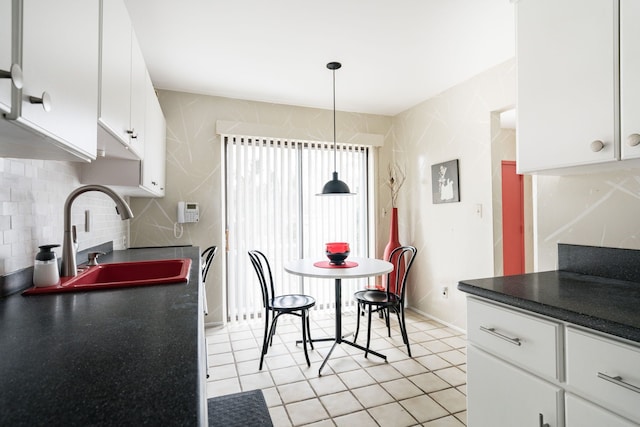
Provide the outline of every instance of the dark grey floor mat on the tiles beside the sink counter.
[[207,400],[209,426],[273,426],[262,390],[244,391]]

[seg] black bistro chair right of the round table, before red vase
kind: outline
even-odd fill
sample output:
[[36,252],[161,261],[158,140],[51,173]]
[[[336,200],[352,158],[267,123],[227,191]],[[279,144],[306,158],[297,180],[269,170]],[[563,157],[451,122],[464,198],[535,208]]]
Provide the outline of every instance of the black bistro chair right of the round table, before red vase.
[[[358,320],[356,324],[356,334],[353,341],[358,339],[358,332],[360,331],[360,317],[364,314],[365,309],[368,309],[368,322],[367,325],[367,350],[364,357],[369,354],[369,343],[371,342],[371,313],[380,312],[387,325],[387,334],[391,337],[391,326],[389,318],[391,312],[396,313],[398,317],[398,323],[400,325],[400,332],[402,333],[402,341],[407,345],[407,352],[411,357],[411,347],[409,346],[409,337],[407,335],[407,325],[404,319],[404,296],[407,288],[407,277],[411,270],[411,265],[415,259],[417,249],[413,246],[400,246],[394,249],[389,255],[389,262],[394,264],[393,271],[389,273],[387,283],[395,283],[396,288],[394,291],[389,289],[376,290],[368,289],[359,291],[354,294],[356,299],[356,306],[358,307]],[[405,265],[404,270],[399,268],[401,265]],[[398,277],[400,276],[400,277]],[[392,279],[395,278],[395,281]]]

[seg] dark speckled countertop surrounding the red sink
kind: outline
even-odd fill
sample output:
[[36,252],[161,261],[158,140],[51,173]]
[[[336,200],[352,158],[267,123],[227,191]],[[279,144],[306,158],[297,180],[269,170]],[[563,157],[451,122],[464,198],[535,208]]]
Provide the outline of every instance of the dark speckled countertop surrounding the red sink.
[[197,247],[188,283],[0,298],[0,425],[206,425]]

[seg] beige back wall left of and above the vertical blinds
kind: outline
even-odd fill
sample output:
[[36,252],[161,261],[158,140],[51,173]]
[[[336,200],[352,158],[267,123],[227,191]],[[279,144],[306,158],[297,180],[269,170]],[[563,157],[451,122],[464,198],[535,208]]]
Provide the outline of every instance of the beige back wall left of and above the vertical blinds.
[[[216,121],[256,124],[301,139],[331,141],[332,112],[170,91],[160,91],[159,99],[167,120],[166,196],[132,200],[136,215],[131,222],[132,245],[193,244],[203,249],[217,245],[221,250],[207,280],[207,323],[221,322],[225,298],[224,202],[222,147],[216,135]],[[341,141],[342,135],[353,133],[386,136],[391,118],[338,112],[336,124]],[[200,222],[185,224],[183,236],[176,238],[173,224],[179,200],[200,203]]]

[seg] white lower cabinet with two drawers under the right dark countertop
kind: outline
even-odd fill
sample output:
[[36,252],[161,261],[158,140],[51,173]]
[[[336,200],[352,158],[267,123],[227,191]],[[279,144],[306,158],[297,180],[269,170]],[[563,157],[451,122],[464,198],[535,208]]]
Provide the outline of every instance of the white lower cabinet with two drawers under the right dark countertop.
[[475,426],[640,426],[640,345],[467,298]]

